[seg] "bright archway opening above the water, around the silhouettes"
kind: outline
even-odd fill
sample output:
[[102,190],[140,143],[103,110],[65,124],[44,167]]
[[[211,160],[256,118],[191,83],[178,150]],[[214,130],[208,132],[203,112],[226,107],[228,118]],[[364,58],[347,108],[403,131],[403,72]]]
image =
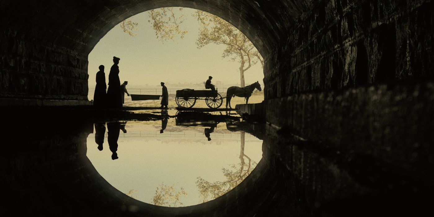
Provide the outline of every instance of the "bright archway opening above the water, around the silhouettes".
[[[166,14],[168,9],[172,14]],[[199,16],[205,18],[200,20]],[[169,92],[169,106],[177,106],[174,98],[177,90],[206,90],[204,83],[208,76],[213,76],[213,85],[223,96],[222,108],[225,106],[228,87],[247,86],[256,81],[263,87],[264,59],[259,50],[240,30],[214,16],[192,8],[158,8],[138,13],[120,23],[129,23],[131,30],[124,28],[123,32],[119,24],[115,25],[89,53],[88,99],[93,99],[95,74],[102,63],[109,83],[107,78],[113,64],[112,56],[122,57],[119,61],[119,77],[121,83],[129,81],[128,93],[161,95],[160,82],[165,82]],[[169,19],[164,20],[167,17]],[[208,23],[211,27],[201,25],[211,18],[215,19]],[[177,26],[170,26],[173,25],[171,19]],[[163,28],[170,30],[161,30]],[[219,28],[224,30],[218,30]],[[168,35],[172,29],[177,29],[178,32]],[[184,30],[187,34],[181,33]],[[171,38],[162,39],[164,37]],[[250,103],[263,101],[263,92],[257,90],[259,89],[249,99]],[[231,105],[243,104],[244,101],[243,98],[236,97]],[[195,107],[207,108],[205,101],[197,102]],[[132,101],[125,94],[125,105],[158,107],[159,100]]]

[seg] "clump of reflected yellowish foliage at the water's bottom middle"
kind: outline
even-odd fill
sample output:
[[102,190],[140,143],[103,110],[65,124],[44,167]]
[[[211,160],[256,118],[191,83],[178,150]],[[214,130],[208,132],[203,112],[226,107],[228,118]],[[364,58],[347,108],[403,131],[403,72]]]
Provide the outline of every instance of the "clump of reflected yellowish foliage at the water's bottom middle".
[[158,206],[176,207],[178,204],[183,205],[179,201],[181,195],[187,195],[183,187],[181,187],[181,191],[175,191],[175,184],[169,186],[163,182],[157,186],[152,202]]

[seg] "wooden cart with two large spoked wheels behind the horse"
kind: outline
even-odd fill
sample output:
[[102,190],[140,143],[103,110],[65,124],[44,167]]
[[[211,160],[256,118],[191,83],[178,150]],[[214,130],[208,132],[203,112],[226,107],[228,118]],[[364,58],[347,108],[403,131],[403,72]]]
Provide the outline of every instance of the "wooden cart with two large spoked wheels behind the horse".
[[217,90],[182,89],[176,91],[175,101],[181,107],[191,108],[196,104],[197,99],[205,100],[211,109],[217,109],[223,104],[223,98]]

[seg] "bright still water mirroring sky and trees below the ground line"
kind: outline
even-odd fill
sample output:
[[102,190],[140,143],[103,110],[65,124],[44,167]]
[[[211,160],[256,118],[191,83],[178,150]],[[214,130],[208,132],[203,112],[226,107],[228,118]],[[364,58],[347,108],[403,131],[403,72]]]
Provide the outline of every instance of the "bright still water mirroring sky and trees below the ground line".
[[230,191],[262,158],[260,139],[228,128],[225,122],[197,126],[175,118],[99,122],[87,138],[87,157],[113,187],[139,201],[201,204]]

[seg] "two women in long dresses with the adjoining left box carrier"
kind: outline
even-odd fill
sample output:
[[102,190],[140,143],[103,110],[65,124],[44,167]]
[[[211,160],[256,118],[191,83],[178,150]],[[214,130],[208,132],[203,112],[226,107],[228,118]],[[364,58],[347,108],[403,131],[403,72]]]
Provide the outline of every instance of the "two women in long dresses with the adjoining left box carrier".
[[112,107],[119,108],[122,107],[125,100],[125,93],[129,96],[126,89],[126,85],[128,82],[125,81],[121,85],[121,81],[119,79],[119,60],[120,58],[113,56],[113,66],[110,68],[109,73],[109,88],[107,89],[107,93],[105,89],[107,86],[105,85],[105,72],[104,66],[99,66],[99,72],[96,73],[96,86],[95,86],[95,95],[93,97],[93,105],[98,107]]

